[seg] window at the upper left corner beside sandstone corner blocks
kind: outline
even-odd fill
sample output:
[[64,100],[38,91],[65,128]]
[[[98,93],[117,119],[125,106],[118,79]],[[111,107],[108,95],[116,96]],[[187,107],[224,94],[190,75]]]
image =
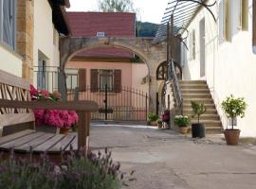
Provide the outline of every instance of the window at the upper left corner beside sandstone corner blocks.
[[0,43],[15,49],[15,0],[0,0]]

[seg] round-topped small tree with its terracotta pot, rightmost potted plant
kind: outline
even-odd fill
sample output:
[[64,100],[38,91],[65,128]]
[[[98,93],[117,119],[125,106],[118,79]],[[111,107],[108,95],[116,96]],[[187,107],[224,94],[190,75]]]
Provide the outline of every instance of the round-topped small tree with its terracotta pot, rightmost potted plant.
[[232,128],[224,130],[227,145],[236,146],[239,142],[240,129],[234,129],[234,119],[238,116],[241,118],[245,116],[247,103],[243,97],[236,98],[231,94],[222,102],[221,106],[224,112],[231,119]]

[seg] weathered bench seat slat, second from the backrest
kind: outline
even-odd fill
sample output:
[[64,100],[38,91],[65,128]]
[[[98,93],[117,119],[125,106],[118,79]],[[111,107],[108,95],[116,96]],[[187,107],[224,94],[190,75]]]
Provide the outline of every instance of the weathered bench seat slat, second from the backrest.
[[5,143],[5,144],[1,145],[0,148],[1,149],[9,149],[12,147],[15,148],[16,146],[22,146],[22,145],[26,144],[27,142],[40,137],[43,134],[44,134],[44,132],[34,132],[29,135],[23,136],[21,138],[14,139],[14,140],[10,141],[9,143]]

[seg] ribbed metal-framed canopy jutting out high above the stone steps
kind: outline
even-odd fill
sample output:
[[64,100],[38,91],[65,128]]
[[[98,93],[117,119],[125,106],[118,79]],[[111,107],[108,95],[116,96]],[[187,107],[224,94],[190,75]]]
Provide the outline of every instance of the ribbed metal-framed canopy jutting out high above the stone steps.
[[167,27],[170,24],[172,17],[174,18],[174,36],[181,34],[186,30],[192,22],[193,17],[202,7],[208,9],[214,21],[216,21],[215,16],[210,10],[210,7],[214,6],[216,1],[211,5],[207,4],[208,1],[209,0],[170,0],[165,9],[161,24],[156,32],[154,43],[166,41]]

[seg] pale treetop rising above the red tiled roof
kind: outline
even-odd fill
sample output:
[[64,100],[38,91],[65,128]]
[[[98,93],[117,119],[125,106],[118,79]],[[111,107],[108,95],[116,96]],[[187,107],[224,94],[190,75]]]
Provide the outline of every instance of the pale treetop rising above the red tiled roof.
[[98,0],[99,8],[103,12],[135,12],[131,0]]

